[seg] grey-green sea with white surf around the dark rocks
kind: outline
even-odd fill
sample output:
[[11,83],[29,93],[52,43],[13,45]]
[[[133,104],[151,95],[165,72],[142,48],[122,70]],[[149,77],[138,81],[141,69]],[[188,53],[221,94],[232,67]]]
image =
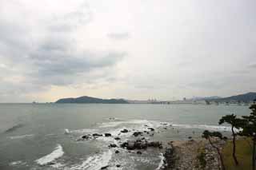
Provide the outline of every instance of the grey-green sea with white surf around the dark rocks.
[[[204,129],[230,135],[218,126],[220,117],[250,113],[241,105],[102,105],[102,104],[1,104],[0,169],[161,169],[163,149],[148,148],[142,155],[110,148],[134,140],[200,138]],[[129,132],[122,133],[122,129]],[[154,128],[151,132],[148,128]],[[106,132],[112,136],[81,140],[83,135]],[[154,135],[153,135],[154,134]],[[114,137],[121,140],[114,140]],[[142,136],[141,136],[142,137]],[[118,150],[119,153],[115,153]],[[118,168],[116,165],[120,164]]]

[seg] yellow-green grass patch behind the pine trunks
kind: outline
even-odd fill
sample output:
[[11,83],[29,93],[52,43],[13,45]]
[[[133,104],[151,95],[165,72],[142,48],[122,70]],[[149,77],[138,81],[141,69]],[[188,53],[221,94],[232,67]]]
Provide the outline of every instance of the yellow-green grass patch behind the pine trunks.
[[236,156],[238,158],[238,166],[234,164],[232,148],[233,144],[231,141],[229,141],[222,150],[226,170],[250,170],[252,154],[252,144],[250,139],[241,138],[236,140]]

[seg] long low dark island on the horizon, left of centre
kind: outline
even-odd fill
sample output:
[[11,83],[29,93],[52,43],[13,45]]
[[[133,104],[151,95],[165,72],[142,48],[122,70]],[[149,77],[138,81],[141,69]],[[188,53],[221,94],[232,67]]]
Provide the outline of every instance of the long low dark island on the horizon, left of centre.
[[62,98],[55,103],[101,103],[101,104],[127,104],[124,99],[101,99],[95,97]]

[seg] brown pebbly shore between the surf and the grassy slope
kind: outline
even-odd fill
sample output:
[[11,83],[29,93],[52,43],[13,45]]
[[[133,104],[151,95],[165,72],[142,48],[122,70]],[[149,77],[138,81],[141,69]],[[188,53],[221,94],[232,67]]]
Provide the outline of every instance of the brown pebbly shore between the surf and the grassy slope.
[[[214,141],[222,147],[226,142]],[[218,153],[207,140],[190,139],[174,140],[168,143],[164,154],[166,159],[164,170],[217,170]]]

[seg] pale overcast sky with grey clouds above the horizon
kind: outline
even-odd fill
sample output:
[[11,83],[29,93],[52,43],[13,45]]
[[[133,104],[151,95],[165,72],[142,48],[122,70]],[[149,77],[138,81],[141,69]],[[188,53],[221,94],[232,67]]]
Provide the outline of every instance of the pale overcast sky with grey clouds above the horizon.
[[0,102],[256,91],[254,0],[0,0]]

